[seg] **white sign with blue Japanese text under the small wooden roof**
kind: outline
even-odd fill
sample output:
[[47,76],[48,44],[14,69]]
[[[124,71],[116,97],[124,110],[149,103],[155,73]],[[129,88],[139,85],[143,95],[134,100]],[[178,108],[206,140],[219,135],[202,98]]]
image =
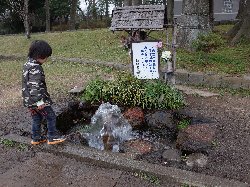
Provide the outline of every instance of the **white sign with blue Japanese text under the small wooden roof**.
[[159,79],[158,41],[132,43],[133,74],[138,79]]

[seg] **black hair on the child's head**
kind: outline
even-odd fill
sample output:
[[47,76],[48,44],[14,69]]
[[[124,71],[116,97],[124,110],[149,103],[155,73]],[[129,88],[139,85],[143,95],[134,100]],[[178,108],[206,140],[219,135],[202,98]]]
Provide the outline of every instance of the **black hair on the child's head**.
[[43,40],[35,40],[31,43],[29,48],[29,58],[33,59],[45,59],[52,54],[52,48]]

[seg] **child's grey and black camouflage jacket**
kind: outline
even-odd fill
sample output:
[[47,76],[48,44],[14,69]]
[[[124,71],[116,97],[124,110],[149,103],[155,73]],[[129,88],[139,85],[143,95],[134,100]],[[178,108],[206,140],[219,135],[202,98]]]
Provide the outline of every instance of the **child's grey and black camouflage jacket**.
[[36,107],[37,102],[41,100],[46,105],[52,104],[50,95],[47,92],[42,65],[30,58],[23,66],[22,97],[24,106],[29,108]]

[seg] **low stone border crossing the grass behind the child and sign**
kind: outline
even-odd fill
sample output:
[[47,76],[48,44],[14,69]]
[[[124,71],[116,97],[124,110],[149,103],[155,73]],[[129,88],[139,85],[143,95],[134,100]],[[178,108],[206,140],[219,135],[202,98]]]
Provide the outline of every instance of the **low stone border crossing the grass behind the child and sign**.
[[[16,55],[0,55],[0,59],[4,60],[24,60],[25,56]],[[81,64],[90,64],[97,66],[111,67],[117,70],[132,72],[132,64],[124,65],[112,62],[100,62],[93,60],[85,60],[80,58],[60,58],[53,57],[54,61],[73,62]],[[177,69],[175,72],[176,84],[209,86],[217,88],[232,88],[232,89],[249,89],[250,88],[250,74],[242,76],[219,75],[214,73],[188,72],[183,69]]]

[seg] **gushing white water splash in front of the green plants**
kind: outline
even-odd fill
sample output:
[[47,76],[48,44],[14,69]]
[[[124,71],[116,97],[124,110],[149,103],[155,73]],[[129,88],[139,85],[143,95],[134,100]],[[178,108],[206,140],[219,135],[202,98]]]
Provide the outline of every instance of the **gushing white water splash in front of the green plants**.
[[132,139],[132,127],[117,105],[104,103],[91,118],[90,131],[85,137],[90,147],[119,152],[119,145]]

